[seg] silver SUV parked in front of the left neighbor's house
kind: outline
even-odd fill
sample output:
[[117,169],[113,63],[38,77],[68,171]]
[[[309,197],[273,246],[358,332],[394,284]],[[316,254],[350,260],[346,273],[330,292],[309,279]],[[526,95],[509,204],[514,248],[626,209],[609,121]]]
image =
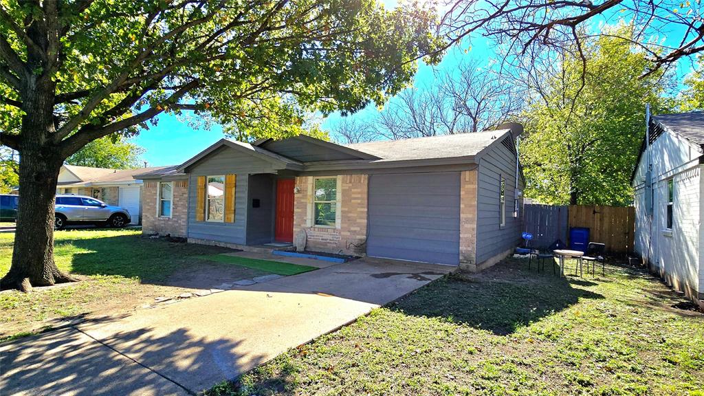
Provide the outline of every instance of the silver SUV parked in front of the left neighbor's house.
[[84,195],[56,195],[54,227],[61,230],[67,224],[96,224],[125,227],[130,224],[130,212]]

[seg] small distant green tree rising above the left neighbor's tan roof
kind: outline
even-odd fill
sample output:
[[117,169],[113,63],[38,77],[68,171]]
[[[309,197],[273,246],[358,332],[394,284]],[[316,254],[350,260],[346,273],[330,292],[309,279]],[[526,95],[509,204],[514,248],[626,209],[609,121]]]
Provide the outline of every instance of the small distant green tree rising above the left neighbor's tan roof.
[[102,137],[94,140],[68,157],[70,165],[93,166],[95,168],[130,169],[139,168],[140,156],[144,149],[137,144],[127,142],[120,135]]

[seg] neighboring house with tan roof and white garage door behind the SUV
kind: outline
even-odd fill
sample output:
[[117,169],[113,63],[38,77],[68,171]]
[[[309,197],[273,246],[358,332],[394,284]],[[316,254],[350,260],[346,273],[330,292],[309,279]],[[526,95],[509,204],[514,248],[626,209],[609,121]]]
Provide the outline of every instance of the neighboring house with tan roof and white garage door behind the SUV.
[[156,168],[108,169],[90,166],[61,166],[56,194],[80,194],[122,206],[130,212],[132,224],[142,223],[142,180],[133,175],[158,171]]

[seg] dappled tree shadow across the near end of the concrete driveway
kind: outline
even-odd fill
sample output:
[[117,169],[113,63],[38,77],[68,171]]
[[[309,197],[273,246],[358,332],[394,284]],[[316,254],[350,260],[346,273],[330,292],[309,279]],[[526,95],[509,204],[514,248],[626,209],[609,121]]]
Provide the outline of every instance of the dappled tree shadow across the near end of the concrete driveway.
[[[101,335],[95,319],[0,345],[7,394],[188,395],[263,363],[241,342],[194,337],[186,328]],[[98,326],[92,329],[92,326]]]

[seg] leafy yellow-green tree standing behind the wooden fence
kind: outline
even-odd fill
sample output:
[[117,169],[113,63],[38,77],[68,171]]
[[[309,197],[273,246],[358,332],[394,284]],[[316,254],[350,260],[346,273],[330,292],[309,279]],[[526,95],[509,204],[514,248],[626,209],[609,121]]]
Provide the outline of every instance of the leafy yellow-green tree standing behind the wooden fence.
[[[620,32],[620,36],[624,32]],[[626,205],[645,135],[645,107],[664,111],[667,76],[624,39],[599,37],[565,53],[523,113],[526,196],[548,204]],[[586,72],[586,73],[583,73]],[[582,79],[584,75],[584,79]]]

